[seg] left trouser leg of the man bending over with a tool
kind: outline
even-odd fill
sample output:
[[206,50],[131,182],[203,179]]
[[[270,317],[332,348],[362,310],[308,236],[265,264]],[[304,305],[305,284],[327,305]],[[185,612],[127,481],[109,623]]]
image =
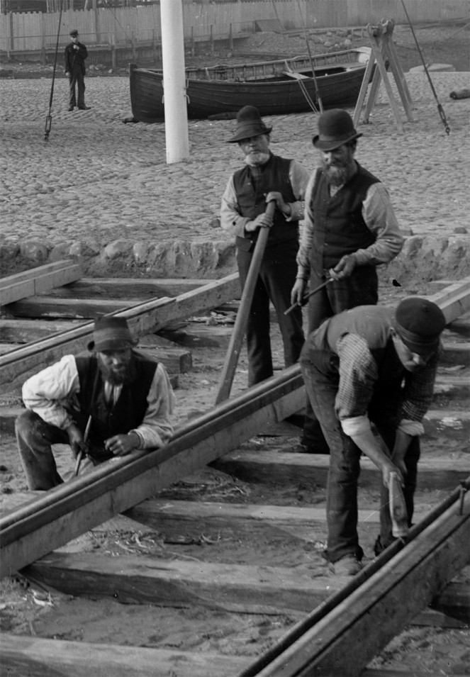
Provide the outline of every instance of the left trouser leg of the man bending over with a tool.
[[330,562],[353,555],[363,556],[357,535],[357,481],[359,448],[342,432],[335,414],[338,388],[337,357],[313,352],[308,341],[301,354],[301,370],[308,397],[330,447],[327,485],[327,556]]

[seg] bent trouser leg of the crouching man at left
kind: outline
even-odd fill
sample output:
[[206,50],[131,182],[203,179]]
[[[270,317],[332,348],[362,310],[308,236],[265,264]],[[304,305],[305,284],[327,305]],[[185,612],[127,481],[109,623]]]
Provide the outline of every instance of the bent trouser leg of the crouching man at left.
[[16,419],[15,432],[28,487],[33,490],[47,490],[62,484],[51,444],[68,444],[67,432],[45,423],[30,409],[22,412]]

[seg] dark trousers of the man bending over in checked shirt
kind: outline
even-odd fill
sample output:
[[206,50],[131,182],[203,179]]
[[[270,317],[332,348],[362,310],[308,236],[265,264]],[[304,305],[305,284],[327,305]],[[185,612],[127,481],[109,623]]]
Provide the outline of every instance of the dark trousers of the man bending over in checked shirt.
[[[360,560],[363,552],[357,535],[357,481],[361,451],[342,431],[335,413],[335,398],[339,384],[338,358],[330,352],[310,349],[307,340],[300,362],[308,398],[328,442],[328,447],[330,447],[327,484],[327,556],[331,562],[342,559],[348,554],[353,554]],[[373,408],[369,410],[369,418],[388,449],[392,450],[396,435],[398,393],[385,391],[374,393],[373,402]],[[404,459],[408,473],[405,475],[403,493],[409,525],[413,518],[413,497],[419,457],[419,437],[413,437]],[[381,544],[387,547],[393,541],[393,536],[388,507],[388,490],[384,486],[381,489],[380,521]]]

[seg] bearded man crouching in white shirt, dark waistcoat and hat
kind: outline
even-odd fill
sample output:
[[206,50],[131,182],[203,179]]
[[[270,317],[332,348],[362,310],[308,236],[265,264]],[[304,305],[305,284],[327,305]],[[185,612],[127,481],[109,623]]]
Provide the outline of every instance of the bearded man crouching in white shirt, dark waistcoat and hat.
[[26,411],[15,430],[30,489],[63,482],[52,444],[69,444],[74,457],[86,454],[83,473],[134,449],[169,442],[172,386],[163,365],[135,345],[124,318],[100,318],[88,353],[65,355],[23,385]]

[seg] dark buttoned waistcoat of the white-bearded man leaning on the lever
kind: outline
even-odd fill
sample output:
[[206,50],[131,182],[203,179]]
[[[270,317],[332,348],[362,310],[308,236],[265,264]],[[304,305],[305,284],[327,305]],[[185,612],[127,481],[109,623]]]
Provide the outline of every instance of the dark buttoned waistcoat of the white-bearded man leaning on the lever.
[[[237,203],[240,214],[250,220],[266,211],[266,196],[269,191],[278,191],[286,202],[296,202],[289,179],[289,167],[291,160],[286,160],[278,155],[271,155],[266,164],[261,167],[259,177],[254,179],[251,168],[246,165],[233,175]],[[248,233],[247,237],[237,237],[236,244],[240,249],[247,249],[247,240],[257,240],[259,229],[254,233]],[[276,209],[274,211],[274,223],[269,229],[267,247],[278,242],[298,239],[298,221],[286,221],[284,215]]]

